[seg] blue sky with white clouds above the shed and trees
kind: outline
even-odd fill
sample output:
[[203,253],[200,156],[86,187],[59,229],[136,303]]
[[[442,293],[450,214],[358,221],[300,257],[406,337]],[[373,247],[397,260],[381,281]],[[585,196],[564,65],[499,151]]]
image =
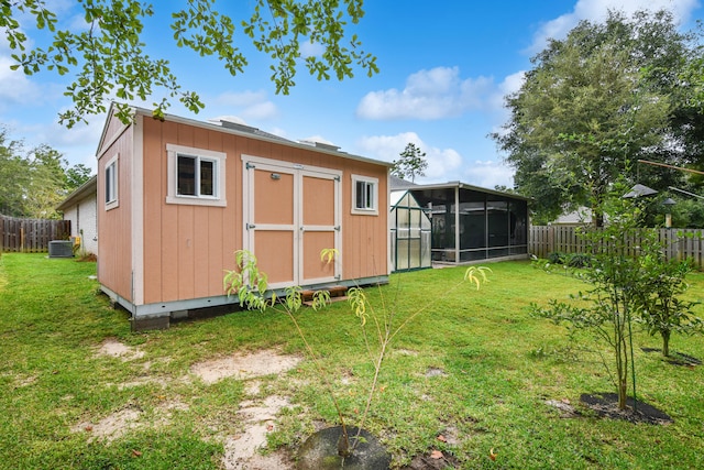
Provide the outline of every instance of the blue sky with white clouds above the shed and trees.
[[[80,28],[76,2],[51,3],[63,28]],[[366,15],[354,31],[377,56],[381,73],[369,78],[359,70],[353,79],[318,81],[301,70],[290,95],[280,96],[268,80],[266,57],[255,52],[250,52],[244,74],[232,77],[216,59],[170,45],[168,17],[160,6],[167,2],[154,3],[161,15],[146,25],[150,54],[168,58],[184,88],[206,103],[198,114],[178,103],[169,113],[198,120],[228,117],[287,139],[318,140],[384,161],[397,159],[413,142],[429,162],[426,177],[416,183],[462,181],[490,188],[512,186],[513,171],[487,134],[505,122],[503,98],[518,89],[530,57],[547,37],[564,37],[580,20],[600,21],[609,8],[626,13],[667,8],[685,30],[704,18],[697,0],[367,0]],[[248,1],[220,3],[233,18],[249,13]],[[41,44],[41,37],[33,40]],[[0,123],[28,147],[45,143],[72,164],[95,168],[105,116],[89,117],[88,125],[62,128],[57,113],[69,105],[62,95],[68,80],[51,73],[25,77],[11,72],[9,54],[0,40]],[[153,101],[158,100],[155,96]]]

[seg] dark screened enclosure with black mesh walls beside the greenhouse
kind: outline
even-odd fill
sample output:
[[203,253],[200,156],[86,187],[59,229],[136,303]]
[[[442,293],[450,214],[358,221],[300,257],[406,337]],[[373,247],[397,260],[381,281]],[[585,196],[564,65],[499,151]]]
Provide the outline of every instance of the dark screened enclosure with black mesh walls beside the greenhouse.
[[407,188],[431,225],[431,263],[528,254],[528,199],[463,183]]

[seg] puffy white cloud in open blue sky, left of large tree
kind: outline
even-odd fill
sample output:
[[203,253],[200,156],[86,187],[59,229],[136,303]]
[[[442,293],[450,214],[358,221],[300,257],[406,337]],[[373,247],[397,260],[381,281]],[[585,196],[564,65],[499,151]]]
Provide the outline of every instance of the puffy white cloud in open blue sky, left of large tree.
[[465,111],[482,109],[485,97],[494,89],[488,77],[460,78],[458,67],[436,67],[420,70],[406,79],[403,90],[369,92],[358,106],[364,119],[435,120],[458,117]]

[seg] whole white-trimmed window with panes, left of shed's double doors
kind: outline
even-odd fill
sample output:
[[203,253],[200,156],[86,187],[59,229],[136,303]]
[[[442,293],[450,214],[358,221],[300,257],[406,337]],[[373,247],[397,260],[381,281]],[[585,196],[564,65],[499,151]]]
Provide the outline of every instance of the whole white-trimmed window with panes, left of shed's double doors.
[[226,206],[224,153],[174,144],[167,144],[166,152],[167,204]]

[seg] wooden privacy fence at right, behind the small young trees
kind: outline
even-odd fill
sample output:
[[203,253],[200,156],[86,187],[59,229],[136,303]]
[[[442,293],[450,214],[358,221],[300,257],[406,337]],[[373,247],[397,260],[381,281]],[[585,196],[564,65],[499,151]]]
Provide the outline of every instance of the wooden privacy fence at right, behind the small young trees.
[[[704,269],[704,230],[701,229],[649,229],[657,230],[660,241],[666,247],[668,259],[684,260],[690,258],[700,269]],[[587,253],[590,244],[578,234],[578,227],[534,226],[528,237],[528,252],[538,258],[547,258],[550,253]],[[630,244],[640,243],[634,237]]]

